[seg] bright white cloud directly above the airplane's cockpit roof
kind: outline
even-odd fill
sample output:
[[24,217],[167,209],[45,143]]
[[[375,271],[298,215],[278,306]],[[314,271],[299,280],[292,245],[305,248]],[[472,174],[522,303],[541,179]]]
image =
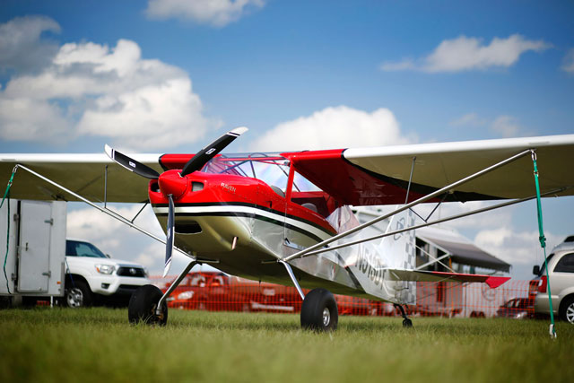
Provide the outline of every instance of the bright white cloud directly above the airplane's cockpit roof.
[[329,107],[310,116],[283,122],[251,145],[254,151],[341,149],[410,144],[389,109],[371,113],[345,106]]

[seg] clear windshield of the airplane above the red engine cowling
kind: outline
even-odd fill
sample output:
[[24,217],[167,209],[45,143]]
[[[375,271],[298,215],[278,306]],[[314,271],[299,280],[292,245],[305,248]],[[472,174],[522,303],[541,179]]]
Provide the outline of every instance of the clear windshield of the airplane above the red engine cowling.
[[289,178],[289,161],[274,153],[226,154],[207,162],[202,171],[258,178],[284,191]]

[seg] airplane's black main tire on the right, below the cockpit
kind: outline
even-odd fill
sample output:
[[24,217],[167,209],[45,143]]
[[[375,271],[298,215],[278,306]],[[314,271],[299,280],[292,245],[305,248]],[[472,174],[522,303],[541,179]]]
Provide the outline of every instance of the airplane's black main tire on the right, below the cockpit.
[[311,290],[301,306],[301,327],[306,330],[335,331],[339,321],[335,297],[326,289]]

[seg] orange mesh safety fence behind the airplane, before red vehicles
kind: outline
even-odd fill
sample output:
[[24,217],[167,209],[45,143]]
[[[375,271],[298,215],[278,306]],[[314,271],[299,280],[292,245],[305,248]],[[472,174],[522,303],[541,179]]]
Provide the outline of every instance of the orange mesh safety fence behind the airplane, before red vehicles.
[[[173,277],[152,277],[162,291]],[[305,291],[306,292],[306,291]],[[529,281],[509,281],[496,289],[485,283],[416,283],[416,305],[407,307],[412,316],[462,318],[534,316],[534,295]],[[340,315],[399,315],[386,302],[335,295]],[[294,313],[301,309],[301,299],[294,287],[257,283],[220,273],[191,273],[168,299],[170,308],[212,311],[269,311]]]

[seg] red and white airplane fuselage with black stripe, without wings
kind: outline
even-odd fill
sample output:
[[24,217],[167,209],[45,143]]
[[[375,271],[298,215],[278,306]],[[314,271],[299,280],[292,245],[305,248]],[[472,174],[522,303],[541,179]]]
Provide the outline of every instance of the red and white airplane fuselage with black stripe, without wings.
[[[266,165],[278,166],[275,162],[267,161]],[[233,163],[225,163],[223,168],[221,163],[207,166],[204,170],[208,171],[189,174],[185,181],[178,180],[178,170],[166,171],[162,178],[171,177],[178,185],[164,187],[171,181],[162,178],[150,182],[153,211],[165,230],[168,198],[162,191],[173,190],[178,248],[229,274],[292,285],[277,261],[335,236],[336,224],[327,218],[340,206],[317,187],[307,186],[292,168],[279,169],[281,177],[267,177],[284,181],[269,185],[238,171],[238,162]],[[256,170],[253,173],[259,174]],[[383,300],[394,293],[388,289],[377,294],[365,292],[359,282],[361,276],[355,275],[361,273],[361,259],[351,260],[354,265],[350,265],[339,254],[330,253],[291,261],[302,287],[326,287],[336,293]],[[362,264],[365,262],[362,259]],[[365,274],[369,273],[365,269]]]

